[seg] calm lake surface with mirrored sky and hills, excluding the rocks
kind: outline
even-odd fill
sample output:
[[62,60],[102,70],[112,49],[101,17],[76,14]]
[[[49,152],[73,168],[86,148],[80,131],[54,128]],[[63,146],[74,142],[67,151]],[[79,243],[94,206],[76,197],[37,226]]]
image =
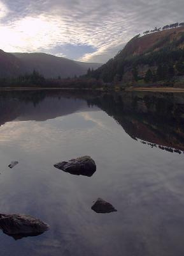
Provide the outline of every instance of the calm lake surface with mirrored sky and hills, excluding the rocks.
[[[183,256],[183,106],[181,93],[1,92],[0,212],[50,230],[1,232],[0,255]],[[92,177],[53,167],[85,155]],[[99,197],[118,211],[92,211]]]

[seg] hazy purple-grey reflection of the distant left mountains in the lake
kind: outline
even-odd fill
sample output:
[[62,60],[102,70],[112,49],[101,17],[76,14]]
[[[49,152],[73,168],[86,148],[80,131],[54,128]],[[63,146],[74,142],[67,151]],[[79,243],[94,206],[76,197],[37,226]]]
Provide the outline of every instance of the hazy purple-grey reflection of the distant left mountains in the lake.
[[0,125],[13,120],[45,121],[88,109],[86,100],[60,91],[1,92],[0,107]]

